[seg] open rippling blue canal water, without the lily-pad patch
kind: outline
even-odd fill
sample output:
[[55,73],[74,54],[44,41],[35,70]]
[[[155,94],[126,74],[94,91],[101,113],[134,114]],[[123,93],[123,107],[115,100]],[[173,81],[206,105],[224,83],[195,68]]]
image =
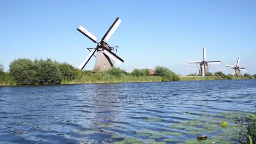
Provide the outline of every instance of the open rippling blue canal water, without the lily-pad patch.
[[184,142],[196,134],[170,125],[254,112],[255,98],[256,80],[0,87],[0,143]]

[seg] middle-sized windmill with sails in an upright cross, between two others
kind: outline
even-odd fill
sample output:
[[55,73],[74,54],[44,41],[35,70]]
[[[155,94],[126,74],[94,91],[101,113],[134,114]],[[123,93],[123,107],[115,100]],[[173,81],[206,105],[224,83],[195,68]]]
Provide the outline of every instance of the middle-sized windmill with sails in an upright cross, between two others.
[[209,73],[209,68],[211,67],[211,64],[220,64],[221,61],[206,61],[206,48],[203,48],[203,61],[189,61],[189,64],[196,64],[198,67],[198,64],[200,64],[199,69],[199,76],[205,76]]

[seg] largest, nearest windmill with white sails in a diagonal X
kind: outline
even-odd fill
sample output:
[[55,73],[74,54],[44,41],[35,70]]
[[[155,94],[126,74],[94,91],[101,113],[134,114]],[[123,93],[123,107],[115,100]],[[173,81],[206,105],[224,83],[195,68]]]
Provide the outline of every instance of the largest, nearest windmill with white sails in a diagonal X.
[[88,30],[86,30],[84,27],[80,26],[77,28],[79,32],[81,32],[83,35],[88,37],[93,43],[97,43],[96,48],[87,48],[90,53],[87,56],[87,58],[83,61],[83,63],[78,67],[79,69],[83,69],[85,65],[88,63],[88,61],[91,59],[92,56],[95,56],[94,53],[97,51],[96,54],[96,61],[94,65],[93,72],[100,72],[105,71],[108,69],[111,69],[114,67],[114,62],[117,62],[117,64],[123,63],[123,59],[121,59],[119,56],[116,55],[116,53],[113,53],[113,48],[117,47],[111,47],[107,41],[109,38],[113,35],[119,24],[121,23],[121,20],[117,18],[114,23],[111,25],[111,27],[108,29],[106,34],[102,37],[101,41],[98,42],[97,38],[91,34]]

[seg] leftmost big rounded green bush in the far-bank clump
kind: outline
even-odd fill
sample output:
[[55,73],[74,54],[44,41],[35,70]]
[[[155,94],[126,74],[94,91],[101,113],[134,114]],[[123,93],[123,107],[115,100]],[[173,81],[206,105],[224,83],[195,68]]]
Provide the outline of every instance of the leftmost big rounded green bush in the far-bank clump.
[[37,83],[36,67],[30,59],[16,59],[9,65],[10,74],[18,85],[33,85]]

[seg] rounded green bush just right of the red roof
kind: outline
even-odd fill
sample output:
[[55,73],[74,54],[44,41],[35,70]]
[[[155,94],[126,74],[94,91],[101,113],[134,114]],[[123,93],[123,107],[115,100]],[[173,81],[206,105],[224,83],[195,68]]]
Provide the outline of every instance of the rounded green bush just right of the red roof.
[[163,81],[177,81],[180,80],[179,75],[176,75],[166,67],[155,67],[155,75],[163,78]]

